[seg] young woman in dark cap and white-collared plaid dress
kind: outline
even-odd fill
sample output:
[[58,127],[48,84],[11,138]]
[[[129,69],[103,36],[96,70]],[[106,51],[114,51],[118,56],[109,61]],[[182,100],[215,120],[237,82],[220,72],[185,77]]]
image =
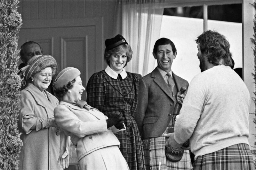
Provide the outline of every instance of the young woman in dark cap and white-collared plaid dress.
[[124,67],[132,59],[132,49],[122,35],[105,41],[104,60],[107,68],[94,73],[86,87],[87,102],[106,116],[120,111],[126,131],[116,133],[120,150],[130,169],[145,169],[140,133],[134,120],[138,102],[138,77]]

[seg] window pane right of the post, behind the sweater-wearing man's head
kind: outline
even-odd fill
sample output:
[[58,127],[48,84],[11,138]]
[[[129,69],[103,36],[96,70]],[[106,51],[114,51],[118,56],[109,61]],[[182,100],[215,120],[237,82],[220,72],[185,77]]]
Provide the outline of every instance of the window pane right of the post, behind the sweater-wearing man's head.
[[208,6],[208,30],[218,31],[229,41],[234,68],[243,67],[242,4]]

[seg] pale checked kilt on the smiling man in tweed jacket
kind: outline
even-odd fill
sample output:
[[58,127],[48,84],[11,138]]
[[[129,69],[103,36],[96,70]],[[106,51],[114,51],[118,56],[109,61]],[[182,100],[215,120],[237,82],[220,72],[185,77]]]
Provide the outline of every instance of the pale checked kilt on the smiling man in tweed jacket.
[[189,151],[185,150],[179,162],[172,162],[165,157],[165,135],[142,140],[146,170],[191,170]]

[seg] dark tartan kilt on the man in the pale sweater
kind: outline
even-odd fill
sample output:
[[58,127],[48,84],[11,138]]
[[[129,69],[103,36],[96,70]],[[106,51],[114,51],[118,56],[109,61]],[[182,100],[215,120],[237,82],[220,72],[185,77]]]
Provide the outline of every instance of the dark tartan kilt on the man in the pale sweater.
[[252,153],[247,144],[232,145],[198,156],[194,170],[254,170]]

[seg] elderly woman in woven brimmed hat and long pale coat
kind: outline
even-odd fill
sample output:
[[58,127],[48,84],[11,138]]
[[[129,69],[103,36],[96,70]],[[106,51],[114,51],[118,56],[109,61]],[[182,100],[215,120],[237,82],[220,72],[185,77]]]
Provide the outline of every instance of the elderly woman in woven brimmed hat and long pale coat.
[[[21,170],[62,169],[57,165],[60,150],[63,151],[60,149],[60,130],[53,116],[53,110],[59,101],[45,90],[50,85],[56,67],[56,60],[51,55],[36,55],[23,68],[28,86],[20,91],[18,126],[23,141],[20,153]],[[68,145],[66,143],[64,146],[65,151],[68,150]],[[63,159],[61,162],[63,163]]]

